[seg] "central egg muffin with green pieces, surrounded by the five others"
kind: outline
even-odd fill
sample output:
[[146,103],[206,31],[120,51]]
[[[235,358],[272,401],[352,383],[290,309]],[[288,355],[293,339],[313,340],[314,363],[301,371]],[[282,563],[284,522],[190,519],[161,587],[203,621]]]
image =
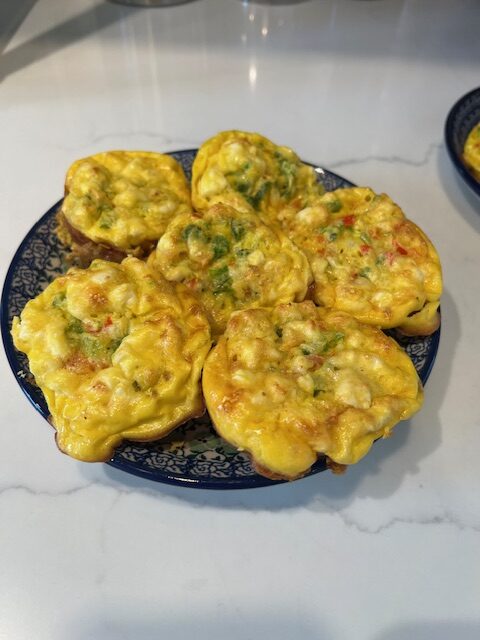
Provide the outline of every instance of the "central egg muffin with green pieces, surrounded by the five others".
[[214,336],[233,311],[301,301],[312,282],[305,255],[281,231],[224,204],[177,216],[149,264],[198,296]]

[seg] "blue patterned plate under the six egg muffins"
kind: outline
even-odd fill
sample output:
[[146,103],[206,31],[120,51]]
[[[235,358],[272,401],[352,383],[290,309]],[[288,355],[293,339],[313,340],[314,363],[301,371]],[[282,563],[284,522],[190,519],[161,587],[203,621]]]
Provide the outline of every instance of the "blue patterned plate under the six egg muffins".
[[[188,179],[196,151],[171,153]],[[353,186],[326,169],[315,167],[315,171],[327,191]],[[26,356],[13,346],[10,328],[13,317],[20,314],[28,300],[67,269],[66,252],[55,234],[55,214],[61,203],[60,200],[40,218],[17,249],[5,279],[1,305],[2,336],[10,366],[22,391],[44,418],[49,416],[45,398],[35,385]],[[407,351],[425,383],[437,353],[440,329],[426,338],[400,337],[394,332],[391,335]],[[245,453],[217,436],[208,414],[190,420],[163,440],[124,442],[107,464],[148,480],[201,489],[246,489],[278,482],[256,474]],[[309,475],[325,469],[325,459],[320,458]]]

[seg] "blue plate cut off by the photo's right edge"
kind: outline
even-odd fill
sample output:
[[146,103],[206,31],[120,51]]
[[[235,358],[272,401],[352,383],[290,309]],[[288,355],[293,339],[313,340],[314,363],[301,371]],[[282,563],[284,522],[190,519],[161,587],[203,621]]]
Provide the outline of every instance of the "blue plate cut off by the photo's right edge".
[[468,134],[480,122],[480,87],[458,100],[450,109],[445,123],[445,142],[454,167],[464,182],[480,197],[480,182],[463,161],[463,148]]

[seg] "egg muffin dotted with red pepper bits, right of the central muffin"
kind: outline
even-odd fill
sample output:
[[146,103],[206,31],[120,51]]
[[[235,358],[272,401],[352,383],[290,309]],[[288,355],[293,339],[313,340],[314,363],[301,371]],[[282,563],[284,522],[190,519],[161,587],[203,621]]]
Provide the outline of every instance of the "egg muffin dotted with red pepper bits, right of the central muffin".
[[435,331],[442,274],[423,231],[368,188],[325,193],[320,205],[284,224],[310,261],[315,302],[384,329]]

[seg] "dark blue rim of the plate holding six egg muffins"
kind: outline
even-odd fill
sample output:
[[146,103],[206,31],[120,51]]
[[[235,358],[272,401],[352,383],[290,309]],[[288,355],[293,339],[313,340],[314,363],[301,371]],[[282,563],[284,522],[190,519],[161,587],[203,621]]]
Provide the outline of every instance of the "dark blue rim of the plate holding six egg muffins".
[[[168,155],[173,155],[173,154],[196,154],[198,152],[198,148],[188,148],[188,149],[176,149],[176,150],[171,150],[171,151],[165,151],[163,153],[168,154]],[[329,169],[327,169],[326,167],[322,167],[319,164],[315,164],[315,163],[311,163],[311,162],[307,162],[302,160],[302,162],[308,166],[311,166],[312,168],[314,168],[316,170],[317,173],[323,172],[328,174],[329,176],[332,176],[334,179],[337,179],[343,183],[348,183],[350,186],[354,187],[356,186],[355,183],[351,182],[350,180],[348,180],[347,178],[344,178],[343,176],[330,171]],[[320,171],[317,171],[320,170]],[[11,290],[11,285],[12,285],[12,281],[13,281],[13,277],[14,277],[14,271],[15,271],[15,267],[16,264],[18,262],[18,260],[20,259],[20,255],[22,253],[23,248],[25,247],[25,245],[29,242],[29,240],[31,239],[32,236],[34,236],[36,230],[38,229],[38,227],[40,227],[46,220],[48,220],[54,213],[55,211],[58,209],[58,207],[61,205],[63,201],[63,198],[60,198],[60,200],[58,200],[55,204],[53,204],[33,225],[32,227],[27,231],[26,235],[24,236],[24,238],[22,239],[22,241],[20,242],[20,244],[18,245],[17,249],[15,250],[13,257],[11,259],[10,265],[8,267],[6,276],[5,276],[5,280],[3,283],[3,287],[2,287],[2,295],[1,295],[1,299],[0,299],[0,327],[1,327],[1,333],[2,333],[2,341],[3,341],[3,346],[5,348],[5,353],[7,355],[7,360],[8,363],[10,365],[10,368],[13,372],[13,375],[17,381],[17,384],[19,385],[20,389],[22,390],[23,394],[27,397],[28,401],[30,402],[30,404],[35,408],[35,410],[40,413],[40,415],[48,422],[48,417],[49,417],[49,412],[48,412],[48,407],[46,405],[46,401],[45,401],[45,407],[47,407],[47,410],[45,411],[45,409],[39,405],[34,398],[29,395],[28,389],[26,388],[26,386],[22,383],[22,378],[20,376],[18,376],[17,374],[17,365],[18,365],[18,361],[17,361],[17,349],[15,348],[14,344],[13,344],[13,339],[11,337],[11,333],[10,333],[10,326],[9,326],[9,318],[8,318],[8,304],[7,304],[7,300],[9,298],[9,293]],[[436,357],[437,357],[437,353],[438,353],[438,347],[439,347],[439,343],[440,343],[440,334],[441,334],[441,324],[439,326],[439,328],[437,329],[437,331],[435,331],[434,334],[432,334],[431,339],[432,339],[432,343],[430,346],[430,350],[429,350],[429,356],[427,359],[427,362],[424,366],[424,369],[422,370],[422,376],[421,376],[421,381],[422,381],[422,385],[425,386],[428,378],[430,377],[430,373],[433,369],[433,365],[435,363]],[[419,374],[420,377],[420,374]],[[43,393],[42,393],[43,395]],[[125,441],[123,441],[125,442]],[[132,444],[141,444],[141,443],[135,443],[134,441],[132,441]],[[115,458],[115,454],[112,456],[112,458],[110,460],[105,461],[105,463],[107,466],[112,467],[114,469],[117,469],[119,471],[122,471],[124,473],[128,473],[130,475],[134,475],[137,476],[139,478],[142,478],[144,480],[149,480],[149,481],[153,481],[153,482],[158,482],[161,484],[167,484],[167,485],[171,485],[171,486],[177,486],[177,487],[190,487],[190,488],[195,488],[195,489],[205,489],[205,490],[239,490],[239,489],[256,489],[256,488],[262,488],[262,487],[268,487],[268,486],[273,486],[273,485],[279,485],[279,484],[285,484],[288,482],[291,482],[289,480],[272,480],[270,478],[267,478],[265,476],[262,476],[258,473],[254,473],[250,476],[242,476],[242,477],[234,477],[234,478],[219,478],[219,479],[212,479],[211,477],[209,478],[192,478],[191,476],[187,476],[185,474],[182,473],[171,473],[168,471],[162,471],[161,474],[158,473],[157,471],[154,470],[148,470],[146,467],[144,466],[138,466],[135,463],[132,463],[131,461],[129,461],[126,458],[122,458],[122,459],[118,459]],[[310,477],[312,475],[317,475],[318,473],[321,473],[323,471],[325,471],[325,469],[327,468],[327,465],[325,463],[325,456],[319,456],[317,459],[317,462],[315,463],[316,465],[319,465],[323,468],[318,468],[315,469],[313,471],[313,473],[307,473],[304,477]],[[302,478],[299,478],[299,480]]]

